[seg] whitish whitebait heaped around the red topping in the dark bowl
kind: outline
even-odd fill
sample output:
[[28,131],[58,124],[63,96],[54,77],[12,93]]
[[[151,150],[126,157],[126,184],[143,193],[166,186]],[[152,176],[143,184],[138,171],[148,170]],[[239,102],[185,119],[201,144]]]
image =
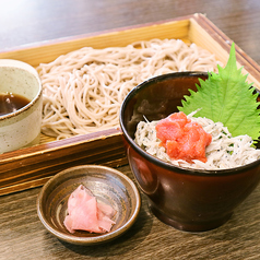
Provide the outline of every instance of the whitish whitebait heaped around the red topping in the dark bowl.
[[228,129],[222,122],[213,122],[208,118],[192,117],[188,118],[200,123],[204,131],[212,135],[212,142],[205,149],[206,163],[193,159],[193,164],[189,164],[182,159],[173,161],[169,158],[161,141],[156,138],[155,126],[157,121],[141,121],[137,127],[135,142],[151,155],[172,163],[176,166],[200,168],[200,169],[227,169],[243,166],[260,158],[260,150],[251,146],[252,140],[248,135],[239,135],[233,138]]

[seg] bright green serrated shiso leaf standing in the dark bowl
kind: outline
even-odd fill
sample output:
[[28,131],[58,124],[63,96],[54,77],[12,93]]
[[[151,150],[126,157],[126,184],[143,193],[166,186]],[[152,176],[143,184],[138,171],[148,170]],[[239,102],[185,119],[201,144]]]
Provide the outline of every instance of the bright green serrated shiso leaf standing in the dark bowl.
[[248,134],[252,140],[260,135],[260,103],[253,94],[252,84],[246,82],[247,75],[237,69],[236,50],[233,43],[225,68],[217,67],[218,73],[209,72],[208,80],[200,80],[198,91],[181,101],[178,107],[186,115],[201,108],[194,116],[222,122],[233,137]]

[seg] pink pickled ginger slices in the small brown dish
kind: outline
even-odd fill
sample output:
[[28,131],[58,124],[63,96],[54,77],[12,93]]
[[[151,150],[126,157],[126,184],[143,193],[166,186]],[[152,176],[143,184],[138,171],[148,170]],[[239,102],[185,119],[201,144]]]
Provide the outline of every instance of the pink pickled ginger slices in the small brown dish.
[[115,210],[107,204],[97,202],[92,192],[80,185],[68,201],[68,215],[64,226],[70,233],[87,231],[90,233],[106,233],[116,224],[111,217]]

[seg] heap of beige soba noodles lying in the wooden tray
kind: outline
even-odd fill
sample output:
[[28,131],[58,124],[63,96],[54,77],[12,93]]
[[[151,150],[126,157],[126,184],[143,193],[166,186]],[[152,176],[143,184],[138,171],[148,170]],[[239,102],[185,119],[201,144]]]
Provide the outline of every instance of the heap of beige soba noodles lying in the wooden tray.
[[127,47],[85,47],[37,68],[44,87],[42,130],[64,139],[118,127],[120,105],[149,78],[176,71],[216,71],[208,50],[179,39]]

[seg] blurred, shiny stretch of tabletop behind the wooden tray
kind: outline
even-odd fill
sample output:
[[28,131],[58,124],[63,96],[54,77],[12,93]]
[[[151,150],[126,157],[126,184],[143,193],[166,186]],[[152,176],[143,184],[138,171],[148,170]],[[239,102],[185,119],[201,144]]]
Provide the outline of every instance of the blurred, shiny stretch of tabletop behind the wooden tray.
[[0,9],[0,50],[198,12],[260,63],[259,0],[9,0]]

